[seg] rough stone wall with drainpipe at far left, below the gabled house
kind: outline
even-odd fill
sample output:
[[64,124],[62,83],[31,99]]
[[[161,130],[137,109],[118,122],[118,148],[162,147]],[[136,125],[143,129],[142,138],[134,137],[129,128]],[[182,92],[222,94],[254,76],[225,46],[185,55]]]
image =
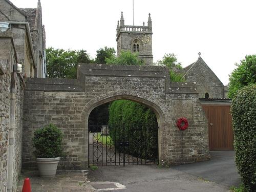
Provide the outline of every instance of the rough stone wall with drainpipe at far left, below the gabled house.
[[10,189],[16,191],[22,165],[24,86],[22,76],[13,73],[17,57],[10,32],[0,33],[0,58],[5,69],[0,75],[0,191],[7,190],[8,177]]

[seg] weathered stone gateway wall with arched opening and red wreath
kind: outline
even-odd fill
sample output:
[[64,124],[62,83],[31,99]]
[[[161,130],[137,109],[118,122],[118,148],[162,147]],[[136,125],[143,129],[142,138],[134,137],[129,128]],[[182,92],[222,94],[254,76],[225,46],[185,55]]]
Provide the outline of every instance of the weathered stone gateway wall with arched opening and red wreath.
[[[80,65],[78,80],[29,79],[24,106],[24,167],[34,167],[34,130],[51,123],[65,135],[66,159],[59,168],[88,165],[88,117],[98,105],[130,99],[147,105],[159,124],[159,161],[181,164],[209,158],[208,129],[194,83],[169,83],[168,71],[153,66]],[[177,118],[189,128],[180,131]]]

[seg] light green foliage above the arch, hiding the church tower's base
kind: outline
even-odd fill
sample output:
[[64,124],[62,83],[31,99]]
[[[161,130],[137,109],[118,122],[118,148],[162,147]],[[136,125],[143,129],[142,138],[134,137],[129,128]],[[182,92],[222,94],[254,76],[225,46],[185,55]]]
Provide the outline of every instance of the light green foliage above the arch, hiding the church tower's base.
[[138,58],[138,53],[131,51],[121,51],[119,57],[112,55],[110,58],[105,59],[106,64],[109,65],[128,65],[128,66],[142,66],[144,61]]

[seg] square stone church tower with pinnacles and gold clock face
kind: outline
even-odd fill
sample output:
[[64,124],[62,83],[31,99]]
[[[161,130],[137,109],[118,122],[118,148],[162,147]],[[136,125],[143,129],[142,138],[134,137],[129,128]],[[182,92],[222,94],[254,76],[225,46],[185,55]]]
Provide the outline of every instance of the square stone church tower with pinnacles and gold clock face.
[[147,26],[124,25],[123,12],[121,12],[120,25],[117,22],[116,28],[117,56],[121,50],[130,50],[132,53],[139,53],[139,58],[145,61],[146,65],[153,64],[152,55],[152,20],[148,14]]

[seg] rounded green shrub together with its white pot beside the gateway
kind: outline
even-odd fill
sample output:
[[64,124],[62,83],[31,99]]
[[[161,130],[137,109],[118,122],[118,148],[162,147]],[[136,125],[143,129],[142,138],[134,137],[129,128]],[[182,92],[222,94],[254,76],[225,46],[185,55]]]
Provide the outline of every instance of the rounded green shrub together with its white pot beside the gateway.
[[62,137],[62,132],[51,123],[34,132],[33,153],[41,177],[55,177],[59,159],[63,155]]

